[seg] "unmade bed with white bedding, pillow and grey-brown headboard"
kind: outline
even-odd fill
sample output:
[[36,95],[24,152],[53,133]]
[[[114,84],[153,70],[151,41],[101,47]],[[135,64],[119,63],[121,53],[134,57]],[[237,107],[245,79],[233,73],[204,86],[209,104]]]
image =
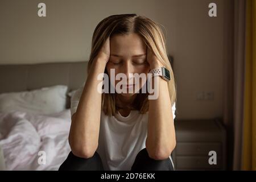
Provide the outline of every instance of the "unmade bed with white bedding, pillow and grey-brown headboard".
[[86,69],[86,61],[0,65],[0,169],[59,169],[71,151],[72,92]]

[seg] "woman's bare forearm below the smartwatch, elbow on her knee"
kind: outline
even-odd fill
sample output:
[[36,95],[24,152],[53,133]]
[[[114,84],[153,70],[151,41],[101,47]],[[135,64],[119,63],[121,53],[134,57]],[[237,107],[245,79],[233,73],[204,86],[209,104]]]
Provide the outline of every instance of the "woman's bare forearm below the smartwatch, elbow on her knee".
[[[152,83],[155,86],[154,79]],[[152,158],[164,159],[171,155],[176,139],[168,82],[158,77],[158,83],[158,98],[149,100],[146,148]]]

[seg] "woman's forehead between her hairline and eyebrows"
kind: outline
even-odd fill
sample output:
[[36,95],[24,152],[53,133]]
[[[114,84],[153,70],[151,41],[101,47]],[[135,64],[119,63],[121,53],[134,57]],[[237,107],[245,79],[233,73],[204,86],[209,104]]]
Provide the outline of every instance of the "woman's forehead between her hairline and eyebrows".
[[146,44],[138,34],[114,35],[110,38],[110,52],[123,56],[146,53]]

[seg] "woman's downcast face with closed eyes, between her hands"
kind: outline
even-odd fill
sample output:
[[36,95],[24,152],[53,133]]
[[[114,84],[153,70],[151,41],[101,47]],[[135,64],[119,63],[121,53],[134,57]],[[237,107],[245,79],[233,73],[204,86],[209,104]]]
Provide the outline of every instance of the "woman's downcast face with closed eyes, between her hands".
[[[125,74],[127,85],[122,85],[120,88],[126,89],[127,92],[121,93],[122,96],[131,97],[138,92],[146,81],[143,79],[139,79],[139,82],[135,81],[134,76],[129,76],[129,73],[133,73],[133,75],[134,73],[139,75],[144,73],[147,76],[150,71],[150,65],[147,62],[147,48],[142,38],[138,34],[112,36],[110,38],[110,59],[106,69],[110,79],[113,76],[110,74],[110,69],[114,69],[115,76],[118,73]],[[119,81],[121,80],[115,79],[115,88]],[[129,82],[133,84],[130,85]],[[129,93],[129,88],[133,88],[134,91]]]

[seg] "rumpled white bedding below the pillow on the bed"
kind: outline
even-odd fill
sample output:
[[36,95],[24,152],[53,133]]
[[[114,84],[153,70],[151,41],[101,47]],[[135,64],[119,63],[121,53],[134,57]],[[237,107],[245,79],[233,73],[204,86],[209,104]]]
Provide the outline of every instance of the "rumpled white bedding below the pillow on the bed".
[[[71,151],[68,144],[70,125],[70,109],[51,115],[22,111],[0,113],[0,146],[6,169],[59,169]],[[46,164],[39,160],[44,154]]]

